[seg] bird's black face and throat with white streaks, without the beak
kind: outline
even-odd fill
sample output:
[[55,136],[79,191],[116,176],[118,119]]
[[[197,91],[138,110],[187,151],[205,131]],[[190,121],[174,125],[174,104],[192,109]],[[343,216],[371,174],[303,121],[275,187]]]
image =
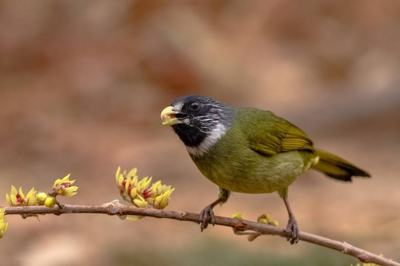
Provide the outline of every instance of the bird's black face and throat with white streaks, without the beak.
[[186,146],[198,146],[218,124],[228,128],[233,120],[233,108],[211,98],[188,95],[174,100],[171,104],[176,117],[183,124],[173,125],[175,133]]

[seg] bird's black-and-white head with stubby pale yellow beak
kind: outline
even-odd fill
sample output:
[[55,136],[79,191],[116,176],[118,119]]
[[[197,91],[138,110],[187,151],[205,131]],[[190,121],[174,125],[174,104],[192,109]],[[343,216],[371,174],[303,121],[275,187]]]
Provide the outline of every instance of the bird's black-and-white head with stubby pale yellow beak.
[[192,155],[207,152],[230,128],[234,108],[212,98],[188,95],[175,99],[161,113]]

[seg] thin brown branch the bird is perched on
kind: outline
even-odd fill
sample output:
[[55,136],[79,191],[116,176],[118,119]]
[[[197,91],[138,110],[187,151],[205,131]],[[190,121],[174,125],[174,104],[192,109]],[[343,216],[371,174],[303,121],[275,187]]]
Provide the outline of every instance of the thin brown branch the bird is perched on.
[[[29,206],[29,207],[0,207],[5,209],[5,214],[64,214],[64,213],[103,213],[108,215],[139,215],[139,216],[150,216],[156,218],[167,218],[179,221],[190,221],[197,223],[199,220],[199,214],[184,211],[170,211],[160,209],[143,209],[137,207],[128,207],[120,204],[118,200],[114,200],[109,203],[102,205],[68,205],[65,204],[64,208],[58,209],[47,208],[44,206]],[[216,225],[226,226],[234,228],[236,231],[254,231],[256,235],[267,234],[267,235],[279,235],[286,237],[288,232],[285,228],[275,227],[271,225],[251,222],[238,218],[228,218],[216,216]],[[361,262],[375,263],[381,266],[400,266],[393,260],[389,260],[380,257],[371,252],[365,251],[361,248],[352,246],[346,242],[340,242],[329,238],[321,237],[318,235],[301,232],[300,240],[320,245],[323,247],[329,247],[335,250],[339,250],[343,254],[347,254],[359,259]]]

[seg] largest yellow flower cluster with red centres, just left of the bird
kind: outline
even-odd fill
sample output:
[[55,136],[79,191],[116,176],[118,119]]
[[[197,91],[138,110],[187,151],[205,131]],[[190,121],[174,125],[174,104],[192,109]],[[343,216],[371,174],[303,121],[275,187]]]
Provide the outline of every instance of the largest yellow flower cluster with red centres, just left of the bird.
[[118,167],[115,180],[121,196],[140,208],[164,209],[168,205],[169,196],[175,189],[161,184],[161,181],[150,186],[152,178],[146,176],[139,180],[137,171],[134,168],[129,172],[121,172],[121,168]]

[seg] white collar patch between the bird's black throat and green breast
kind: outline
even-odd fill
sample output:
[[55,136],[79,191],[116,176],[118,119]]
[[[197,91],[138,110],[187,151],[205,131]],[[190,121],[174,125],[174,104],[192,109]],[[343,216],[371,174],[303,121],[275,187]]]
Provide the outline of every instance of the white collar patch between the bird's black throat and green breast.
[[223,135],[225,135],[226,131],[227,128],[223,124],[218,123],[214,125],[211,132],[207,134],[198,146],[186,146],[187,152],[197,157],[203,156],[220,140]]

